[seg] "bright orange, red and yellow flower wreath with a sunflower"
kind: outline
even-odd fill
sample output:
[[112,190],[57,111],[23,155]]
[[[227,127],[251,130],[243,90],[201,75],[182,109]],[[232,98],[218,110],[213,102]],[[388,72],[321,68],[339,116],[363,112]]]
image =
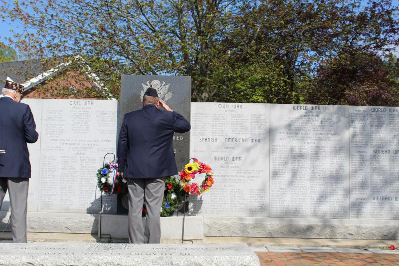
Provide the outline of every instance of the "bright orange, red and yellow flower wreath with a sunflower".
[[[190,195],[201,195],[202,193],[208,191],[213,185],[213,172],[209,165],[201,163],[196,158],[192,163],[186,164],[182,172],[179,173],[180,184],[183,186],[183,190]],[[197,174],[205,174],[205,178],[202,180],[201,185],[193,182],[193,179]]]

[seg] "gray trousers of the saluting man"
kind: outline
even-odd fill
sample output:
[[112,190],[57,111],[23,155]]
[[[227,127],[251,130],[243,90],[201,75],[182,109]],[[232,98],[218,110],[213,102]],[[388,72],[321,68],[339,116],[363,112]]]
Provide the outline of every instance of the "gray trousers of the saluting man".
[[[165,178],[129,178],[129,243],[157,244],[161,241],[161,206]],[[142,210],[146,202],[147,216],[143,226]]]

